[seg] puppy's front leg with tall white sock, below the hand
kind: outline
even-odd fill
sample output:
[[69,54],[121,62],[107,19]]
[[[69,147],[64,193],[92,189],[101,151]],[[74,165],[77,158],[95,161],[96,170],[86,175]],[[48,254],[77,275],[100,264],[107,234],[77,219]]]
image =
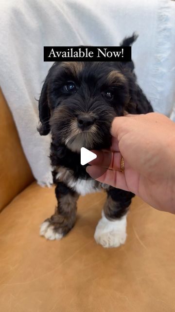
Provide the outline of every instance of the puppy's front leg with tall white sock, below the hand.
[[134,194],[110,187],[102,218],[94,234],[103,247],[118,247],[126,240],[126,214]]

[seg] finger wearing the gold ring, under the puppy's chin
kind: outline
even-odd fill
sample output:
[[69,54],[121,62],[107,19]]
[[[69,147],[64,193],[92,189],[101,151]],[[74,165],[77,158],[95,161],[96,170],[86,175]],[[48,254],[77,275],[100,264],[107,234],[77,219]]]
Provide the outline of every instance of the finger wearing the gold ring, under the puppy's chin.
[[120,152],[111,151],[92,151],[97,155],[97,158],[90,161],[90,165],[97,165],[103,168],[121,170],[122,155]]

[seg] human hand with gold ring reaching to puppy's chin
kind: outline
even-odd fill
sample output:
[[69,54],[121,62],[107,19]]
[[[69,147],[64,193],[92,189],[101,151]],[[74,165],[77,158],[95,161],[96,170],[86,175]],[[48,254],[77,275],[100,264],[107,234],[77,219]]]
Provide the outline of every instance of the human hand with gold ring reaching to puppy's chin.
[[[159,210],[175,213],[175,123],[158,113],[127,115],[113,120],[111,134],[111,152],[93,151],[97,158],[87,167],[88,174],[139,195]],[[120,171],[122,156],[124,173]]]

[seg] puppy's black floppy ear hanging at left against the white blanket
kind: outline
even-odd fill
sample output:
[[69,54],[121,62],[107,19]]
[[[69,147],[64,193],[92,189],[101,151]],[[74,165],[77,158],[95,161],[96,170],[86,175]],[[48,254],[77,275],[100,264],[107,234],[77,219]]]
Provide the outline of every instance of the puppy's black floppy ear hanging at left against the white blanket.
[[43,84],[38,103],[39,119],[41,121],[41,125],[37,128],[37,130],[41,136],[46,136],[50,132],[49,119],[51,117],[51,113],[48,106],[48,80],[49,77],[47,76]]

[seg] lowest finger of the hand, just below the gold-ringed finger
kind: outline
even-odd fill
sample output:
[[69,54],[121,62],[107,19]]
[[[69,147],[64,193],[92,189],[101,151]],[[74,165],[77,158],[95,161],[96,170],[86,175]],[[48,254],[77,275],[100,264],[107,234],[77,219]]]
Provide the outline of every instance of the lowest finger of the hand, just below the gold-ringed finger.
[[104,173],[103,168],[100,166],[88,166],[86,170],[89,176],[95,178],[99,182],[111,185],[118,189],[129,191],[125,176],[120,171],[107,169]]

